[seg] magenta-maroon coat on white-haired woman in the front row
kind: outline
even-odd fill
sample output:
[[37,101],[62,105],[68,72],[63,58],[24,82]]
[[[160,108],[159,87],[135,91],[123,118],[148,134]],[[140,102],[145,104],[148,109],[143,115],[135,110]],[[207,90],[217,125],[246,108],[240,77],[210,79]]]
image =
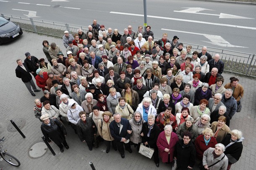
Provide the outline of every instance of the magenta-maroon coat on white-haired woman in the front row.
[[[175,145],[179,141],[177,134],[173,131],[171,132],[170,142],[168,144],[165,137],[165,131],[162,131],[157,138],[157,147],[159,149],[159,157],[161,157],[162,162],[168,162],[168,156],[170,153],[170,162],[173,161],[173,154],[175,151]],[[165,148],[170,149],[169,152],[165,152]]]

